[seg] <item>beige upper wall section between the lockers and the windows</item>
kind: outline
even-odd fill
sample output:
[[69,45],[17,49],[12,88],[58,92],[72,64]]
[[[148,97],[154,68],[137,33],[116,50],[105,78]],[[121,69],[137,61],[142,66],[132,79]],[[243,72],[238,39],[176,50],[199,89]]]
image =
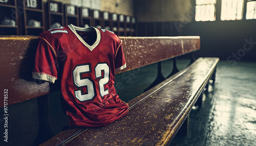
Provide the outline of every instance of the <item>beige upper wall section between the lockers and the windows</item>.
[[140,0],[134,3],[139,22],[183,21],[183,15],[191,8],[190,0]]

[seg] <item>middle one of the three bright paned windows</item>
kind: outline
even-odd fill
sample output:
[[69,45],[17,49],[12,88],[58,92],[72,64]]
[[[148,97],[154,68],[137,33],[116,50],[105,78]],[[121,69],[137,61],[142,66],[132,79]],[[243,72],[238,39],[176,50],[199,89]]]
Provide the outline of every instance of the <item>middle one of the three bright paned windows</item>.
[[243,16],[243,0],[222,0],[221,20],[241,20]]

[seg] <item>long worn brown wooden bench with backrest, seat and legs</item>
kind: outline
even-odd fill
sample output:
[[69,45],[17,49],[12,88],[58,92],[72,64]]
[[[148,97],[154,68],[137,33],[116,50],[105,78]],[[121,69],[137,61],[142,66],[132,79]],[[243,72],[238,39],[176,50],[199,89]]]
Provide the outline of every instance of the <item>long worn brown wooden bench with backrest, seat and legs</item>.
[[[127,67],[135,69],[158,62],[158,78],[128,104],[129,113],[102,128],[69,128],[54,136],[49,124],[47,94],[58,84],[39,84],[31,77],[37,37],[1,36],[1,90],[8,89],[8,105],[33,98],[38,100],[39,131],[34,145],[166,145],[182,123],[210,79],[214,79],[218,58],[199,58],[178,72],[175,58],[200,49],[200,37],[120,37]],[[174,59],[167,79],[161,75],[161,61]],[[2,108],[4,101],[1,101]],[[187,125],[188,122],[185,124]],[[185,128],[186,129],[186,128]],[[54,136],[54,137],[53,137]]]

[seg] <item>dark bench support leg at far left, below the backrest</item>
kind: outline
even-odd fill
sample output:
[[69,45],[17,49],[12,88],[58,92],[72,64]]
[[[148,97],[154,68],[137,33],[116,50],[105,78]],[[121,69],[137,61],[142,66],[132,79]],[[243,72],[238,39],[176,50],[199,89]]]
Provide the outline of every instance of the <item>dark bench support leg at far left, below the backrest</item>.
[[39,129],[33,145],[39,145],[54,136],[49,123],[48,95],[38,97],[37,106]]

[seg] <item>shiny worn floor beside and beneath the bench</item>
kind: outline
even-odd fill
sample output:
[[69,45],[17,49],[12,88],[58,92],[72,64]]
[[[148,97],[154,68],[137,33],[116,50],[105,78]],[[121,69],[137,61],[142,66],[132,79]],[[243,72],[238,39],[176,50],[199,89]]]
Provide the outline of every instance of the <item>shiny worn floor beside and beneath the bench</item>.
[[[178,68],[182,69],[188,63],[189,60],[178,59]],[[165,68],[162,69],[163,76],[168,76],[172,61],[164,61],[162,68]],[[255,73],[256,63],[220,61],[215,86],[210,86],[204,95],[202,108],[190,113],[188,135],[176,135],[170,145],[253,145],[256,137]],[[125,102],[130,101],[154,81],[156,74],[157,64],[118,74],[117,93]],[[57,134],[68,125],[67,117],[61,111],[58,92],[50,95],[49,106],[51,126]],[[8,108],[8,143],[2,138],[0,145],[33,143],[38,126],[36,108],[36,99]],[[4,113],[3,109],[0,112]],[[3,114],[0,117],[3,136]]]

